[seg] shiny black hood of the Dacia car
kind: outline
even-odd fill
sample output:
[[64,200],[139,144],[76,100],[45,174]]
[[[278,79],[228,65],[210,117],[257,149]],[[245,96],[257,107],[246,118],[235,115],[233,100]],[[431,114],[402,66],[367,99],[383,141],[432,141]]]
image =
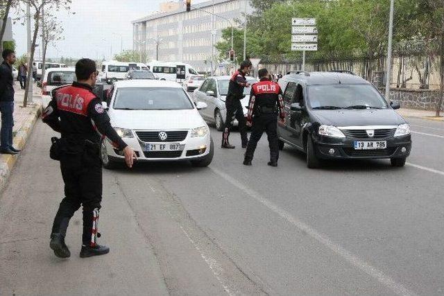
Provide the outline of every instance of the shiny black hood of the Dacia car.
[[334,126],[400,125],[406,121],[392,109],[312,110],[319,123]]

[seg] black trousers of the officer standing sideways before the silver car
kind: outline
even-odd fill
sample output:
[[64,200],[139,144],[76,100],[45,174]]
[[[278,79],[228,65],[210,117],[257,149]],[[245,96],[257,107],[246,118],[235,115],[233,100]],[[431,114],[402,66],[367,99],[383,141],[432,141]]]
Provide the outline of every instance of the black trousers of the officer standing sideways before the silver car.
[[233,128],[234,119],[237,119],[239,122],[239,133],[241,134],[242,145],[246,145],[248,143],[247,122],[241,101],[237,98],[227,97],[225,107],[227,107],[227,117],[225,119],[225,130],[223,131],[222,143],[224,142],[224,139],[228,141],[228,136]]

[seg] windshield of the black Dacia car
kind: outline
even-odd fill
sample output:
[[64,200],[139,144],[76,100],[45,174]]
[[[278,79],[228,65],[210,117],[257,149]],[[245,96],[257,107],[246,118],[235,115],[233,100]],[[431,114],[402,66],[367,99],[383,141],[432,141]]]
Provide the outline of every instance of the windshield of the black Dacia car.
[[387,103],[372,85],[314,85],[308,87],[312,109],[386,109]]

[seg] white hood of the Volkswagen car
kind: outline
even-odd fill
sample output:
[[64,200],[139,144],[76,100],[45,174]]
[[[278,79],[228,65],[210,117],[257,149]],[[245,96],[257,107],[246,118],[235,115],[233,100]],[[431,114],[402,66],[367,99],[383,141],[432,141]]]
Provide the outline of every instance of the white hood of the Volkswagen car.
[[197,110],[110,110],[114,128],[189,130],[206,125]]

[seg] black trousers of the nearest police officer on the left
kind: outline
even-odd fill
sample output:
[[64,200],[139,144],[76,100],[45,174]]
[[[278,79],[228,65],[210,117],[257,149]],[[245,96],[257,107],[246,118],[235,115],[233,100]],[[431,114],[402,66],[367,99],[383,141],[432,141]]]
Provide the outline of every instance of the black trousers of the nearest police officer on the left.
[[[54,218],[52,233],[66,235],[69,219],[83,206],[83,245],[90,245],[93,234],[94,212],[98,214],[102,200],[101,159],[84,154],[62,154],[60,159],[65,198]],[[95,234],[96,230],[94,230]]]

